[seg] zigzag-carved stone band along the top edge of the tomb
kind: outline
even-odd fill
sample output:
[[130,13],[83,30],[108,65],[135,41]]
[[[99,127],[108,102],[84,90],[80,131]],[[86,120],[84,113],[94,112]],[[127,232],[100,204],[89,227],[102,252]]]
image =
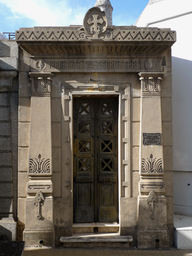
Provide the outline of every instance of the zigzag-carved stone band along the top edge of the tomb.
[[[93,15],[97,15],[96,13]],[[145,28],[141,31],[137,27],[108,27],[106,30],[103,30],[102,27],[106,27],[106,23],[103,20],[103,23],[99,23],[99,16],[93,18],[93,15],[90,16],[90,20],[87,19],[86,26],[71,26],[71,27],[59,27],[59,28],[48,28],[47,30],[42,28],[32,28],[32,29],[20,29],[16,31],[16,41],[40,41],[40,42],[66,42],[66,41],[87,41],[93,40],[93,31],[97,30],[97,35],[99,38],[105,41],[120,41],[120,42],[175,42],[176,41],[176,32],[170,31],[170,29],[161,29],[161,28]],[[99,18],[99,19],[98,19]],[[95,19],[95,22],[93,20]],[[97,26],[96,26],[97,22]],[[102,22],[102,21],[100,21]],[[95,24],[95,28],[93,25]],[[87,28],[89,26],[89,28]],[[98,28],[99,26],[99,28]],[[100,31],[98,31],[100,30]],[[90,32],[90,34],[89,34]],[[92,33],[92,35],[91,35]],[[100,34],[99,34],[100,33]],[[103,33],[103,34],[102,34]],[[158,46],[159,47],[159,46]]]

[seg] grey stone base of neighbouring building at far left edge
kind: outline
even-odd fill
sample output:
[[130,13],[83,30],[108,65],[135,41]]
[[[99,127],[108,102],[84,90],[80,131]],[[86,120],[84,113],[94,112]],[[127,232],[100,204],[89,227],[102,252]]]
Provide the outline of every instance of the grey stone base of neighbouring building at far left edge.
[[14,221],[14,218],[2,218],[0,220],[0,240],[16,240],[16,221]]

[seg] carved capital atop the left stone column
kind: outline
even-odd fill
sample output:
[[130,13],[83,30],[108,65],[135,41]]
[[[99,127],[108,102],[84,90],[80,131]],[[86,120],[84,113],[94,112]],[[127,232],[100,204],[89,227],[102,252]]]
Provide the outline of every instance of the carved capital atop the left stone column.
[[32,96],[51,96],[52,73],[30,73]]

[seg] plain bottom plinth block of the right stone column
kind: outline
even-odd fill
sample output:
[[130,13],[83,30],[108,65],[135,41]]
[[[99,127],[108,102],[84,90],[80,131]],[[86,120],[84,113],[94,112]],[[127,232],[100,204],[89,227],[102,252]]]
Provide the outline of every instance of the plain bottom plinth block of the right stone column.
[[137,247],[139,249],[160,249],[169,247],[167,229],[138,229]]

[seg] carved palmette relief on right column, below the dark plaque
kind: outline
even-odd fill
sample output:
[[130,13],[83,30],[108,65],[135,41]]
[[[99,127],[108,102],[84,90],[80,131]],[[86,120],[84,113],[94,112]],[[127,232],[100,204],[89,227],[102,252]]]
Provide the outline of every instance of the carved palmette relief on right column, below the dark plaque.
[[150,158],[145,160],[142,158],[141,161],[141,175],[153,175],[153,174],[162,174],[162,159],[154,158],[153,154],[150,155]]

